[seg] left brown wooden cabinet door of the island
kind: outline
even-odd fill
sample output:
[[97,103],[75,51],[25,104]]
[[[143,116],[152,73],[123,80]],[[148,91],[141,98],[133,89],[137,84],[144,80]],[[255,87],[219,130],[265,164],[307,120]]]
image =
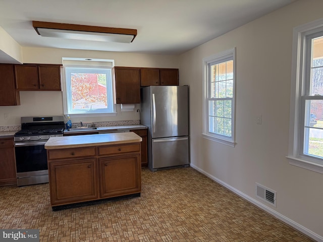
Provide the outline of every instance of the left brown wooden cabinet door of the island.
[[96,159],[49,162],[51,205],[98,198]]

